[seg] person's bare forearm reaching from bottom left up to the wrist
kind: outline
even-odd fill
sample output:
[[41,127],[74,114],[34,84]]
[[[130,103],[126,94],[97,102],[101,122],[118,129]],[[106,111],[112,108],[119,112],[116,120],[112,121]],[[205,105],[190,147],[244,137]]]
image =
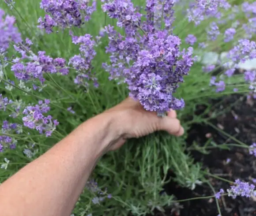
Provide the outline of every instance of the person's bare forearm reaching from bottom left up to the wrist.
[[5,216],[69,216],[96,161],[114,139],[112,119],[96,116],[0,186]]

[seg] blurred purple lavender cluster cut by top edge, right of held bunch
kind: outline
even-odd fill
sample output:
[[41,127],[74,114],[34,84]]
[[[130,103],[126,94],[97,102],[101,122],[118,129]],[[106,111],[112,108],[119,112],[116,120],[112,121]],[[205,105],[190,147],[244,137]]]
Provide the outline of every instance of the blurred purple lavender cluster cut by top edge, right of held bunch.
[[222,17],[220,9],[227,10],[230,7],[231,5],[226,0],[196,0],[187,9],[188,21],[199,25],[201,21],[209,17],[220,19]]

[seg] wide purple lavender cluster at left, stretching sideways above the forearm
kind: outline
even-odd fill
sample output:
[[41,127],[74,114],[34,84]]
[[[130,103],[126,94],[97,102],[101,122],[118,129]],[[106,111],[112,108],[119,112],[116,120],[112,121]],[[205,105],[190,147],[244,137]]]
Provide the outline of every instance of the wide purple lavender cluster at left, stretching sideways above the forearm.
[[[15,50],[21,54],[22,57],[15,58],[11,71],[14,72],[16,78],[23,82],[39,80],[41,84],[45,82],[44,74],[68,74],[68,68],[66,61],[62,58],[51,58],[45,55],[45,51],[39,51],[38,54],[34,54],[30,50],[32,42],[26,39],[23,45],[15,46]],[[38,86],[33,85],[34,89],[38,89]]]

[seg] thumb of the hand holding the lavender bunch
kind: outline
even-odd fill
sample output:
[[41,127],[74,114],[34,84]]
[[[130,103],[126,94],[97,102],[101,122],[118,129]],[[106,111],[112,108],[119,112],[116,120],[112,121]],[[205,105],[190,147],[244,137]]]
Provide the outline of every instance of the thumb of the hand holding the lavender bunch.
[[159,120],[160,120],[160,130],[165,130],[169,134],[172,134],[175,136],[181,136],[184,134],[184,128],[181,127],[181,122],[179,119],[165,116]]

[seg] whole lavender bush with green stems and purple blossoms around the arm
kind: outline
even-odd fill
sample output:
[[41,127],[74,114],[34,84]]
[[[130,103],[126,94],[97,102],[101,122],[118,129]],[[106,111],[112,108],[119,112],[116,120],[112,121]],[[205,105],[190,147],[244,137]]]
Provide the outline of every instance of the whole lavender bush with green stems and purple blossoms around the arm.
[[[255,68],[234,73],[256,59],[255,2],[4,0],[0,7],[1,181],[128,94],[159,116],[180,110],[187,130],[207,122],[194,115],[197,104],[255,94]],[[222,55],[214,61],[213,52]],[[184,153],[185,136],[129,142],[99,162],[75,216],[139,216],[177,206],[163,190],[170,169],[191,190],[208,182]],[[255,155],[255,144],[241,147]],[[251,197],[254,189],[237,179],[213,197]]]

